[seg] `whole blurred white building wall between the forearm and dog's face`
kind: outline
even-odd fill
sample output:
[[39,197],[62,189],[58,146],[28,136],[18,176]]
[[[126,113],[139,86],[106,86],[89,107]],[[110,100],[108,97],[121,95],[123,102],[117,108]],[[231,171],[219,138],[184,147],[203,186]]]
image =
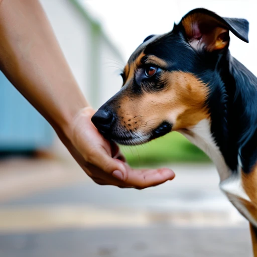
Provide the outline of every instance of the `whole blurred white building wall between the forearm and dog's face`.
[[[41,4],[80,88],[87,100],[98,108],[121,87],[119,73],[113,68],[122,62],[119,54],[100,31],[95,42],[99,52],[92,57],[91,24],[69,0],[41,0]],[[99,58],[96,62],[99,66],[92,68],[91,58]],[[92,81],[94,78],[97,82]]]

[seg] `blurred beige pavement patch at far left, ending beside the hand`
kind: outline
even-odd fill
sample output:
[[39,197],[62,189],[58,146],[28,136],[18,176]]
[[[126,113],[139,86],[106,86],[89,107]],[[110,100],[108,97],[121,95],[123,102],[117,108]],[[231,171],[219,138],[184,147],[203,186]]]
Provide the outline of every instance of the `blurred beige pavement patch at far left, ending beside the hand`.
[[8,158],[0,160],[0,203],[65,184],[89,181],[77,163],[57,159]]

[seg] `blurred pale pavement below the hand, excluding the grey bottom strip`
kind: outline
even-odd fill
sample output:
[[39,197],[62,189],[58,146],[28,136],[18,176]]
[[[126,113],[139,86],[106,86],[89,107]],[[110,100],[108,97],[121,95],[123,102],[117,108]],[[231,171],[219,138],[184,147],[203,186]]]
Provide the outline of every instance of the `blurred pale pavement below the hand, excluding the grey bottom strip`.
[[13,170],[0,173],[0,220],[5,220],[0,231],[159,223],[247,226],[220,192],[212,164],[173,164],[173,181],[139,191],[99,186],[75,164],[24,162],[26,168],[22,160],[2,164]]

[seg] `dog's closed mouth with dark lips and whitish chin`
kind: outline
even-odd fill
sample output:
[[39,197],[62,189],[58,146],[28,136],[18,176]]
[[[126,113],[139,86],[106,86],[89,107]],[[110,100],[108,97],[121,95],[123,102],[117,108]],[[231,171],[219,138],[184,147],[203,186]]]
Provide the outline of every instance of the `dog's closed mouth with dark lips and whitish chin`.
[[145,144],[151,140],[162,137],[172,130],[172,124],[164,121],[156,129],[149,133],[130,132],[122,129],[113,130],[111,133],[102,133],[107,140],[114,141],[119,145],[135,146]]

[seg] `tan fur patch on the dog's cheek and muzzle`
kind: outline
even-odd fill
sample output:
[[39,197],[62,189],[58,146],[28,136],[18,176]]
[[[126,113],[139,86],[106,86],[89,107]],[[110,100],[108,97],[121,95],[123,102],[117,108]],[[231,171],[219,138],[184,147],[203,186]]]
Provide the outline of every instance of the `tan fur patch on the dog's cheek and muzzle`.
[[186,129],[208,118],[205,107],[208,95],[206,84],[193,74],[185,72],[165,72],[161,78],[165,89],[131,95],[123,91],[120,108],[117,110],[120,124],[130,132],[147,134],[163,121],[173,124],[173,130]]

